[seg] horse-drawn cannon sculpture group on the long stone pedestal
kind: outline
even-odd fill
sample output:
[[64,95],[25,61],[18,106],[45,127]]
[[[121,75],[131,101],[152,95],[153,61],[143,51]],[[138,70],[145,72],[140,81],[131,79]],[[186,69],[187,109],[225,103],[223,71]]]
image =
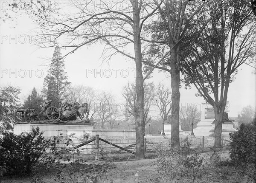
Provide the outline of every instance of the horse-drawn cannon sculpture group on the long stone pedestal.
[[77,118],[80,120],[85,118],[85,121],[90,121],[88,118],[90,110],[87,103],[80,105],[78,102],[73,102],[72,104],[63,102],[59,108],[51,106],[51,103],[52,100],[49,100],[40,105],[42,108],[40,113],[32,107],[27,109],[18,108],[15,111],[15,119],[18,123],[47,120],[69,121]]

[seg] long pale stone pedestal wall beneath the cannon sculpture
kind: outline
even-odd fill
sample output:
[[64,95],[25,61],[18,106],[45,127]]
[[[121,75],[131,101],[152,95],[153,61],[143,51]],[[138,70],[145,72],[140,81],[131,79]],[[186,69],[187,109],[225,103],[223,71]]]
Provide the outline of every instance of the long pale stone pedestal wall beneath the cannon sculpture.
[[[99,135],[106,141],[109,141],[118,146],[127,147],[135,143],[136,132],[135,130],[93,130],[92,126],[89,125],[61,125],[61,124],[17,124],[14,127],[14,134],[20,134],[21,132],[31,132],[32,128],[39,127],[41,131],[44,131],[46,138],[53,138],[60,136],[70,138],[73,141],[73,146],[77,146],[90,138]],[[116,151],[119,150],[117,147],[111,146],[103,141],[99,141],[99,145],[103,151]],[[56,144],[58,147],[64,147],[65,144]],[[72,146],[69,146],[70,148]],[[82,146],[79,150],[85,154],[94,153],[96,144],[95,141]]]

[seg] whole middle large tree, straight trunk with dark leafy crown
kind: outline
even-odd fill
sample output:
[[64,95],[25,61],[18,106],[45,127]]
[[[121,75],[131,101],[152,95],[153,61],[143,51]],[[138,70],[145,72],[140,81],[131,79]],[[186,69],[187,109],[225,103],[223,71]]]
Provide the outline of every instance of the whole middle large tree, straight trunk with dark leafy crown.
[[[154,0],[157,4],[157,1]],[[150,57],[143,60],[145,64],[165,70],[171,75],[172,87],[172,145],[179,146],[179,104],[180,104],[180,62],[190,51],[193,42],[199,37],[201,31],[191,33],[190,29],[198,25],[202,4],[190,4],[188,1],[165,0],[159,7],[159,20],[153,22],[148,29],[152,32],[153,43],[149,53],[151,57],[160,59],[157,63]],[[188,12],[189,17],[188,17]],[[202,24],[201,29],[204,29]],[[189,39],[188,39],[189,38]],[[155,42],[154,41],[158,41]],[[157,50],[157,51],[155,51]],[[166,51],[167,50],[167,51]]]

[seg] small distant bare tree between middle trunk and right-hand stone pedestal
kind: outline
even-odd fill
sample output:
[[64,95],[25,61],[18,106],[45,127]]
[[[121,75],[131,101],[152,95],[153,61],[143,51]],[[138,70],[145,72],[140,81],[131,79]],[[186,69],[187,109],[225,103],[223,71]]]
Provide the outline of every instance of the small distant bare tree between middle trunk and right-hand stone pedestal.
[[192,130],[192,123],[194,124],[193,128],[196,127],[196,124],[200,121],[201,112],[198,111],[195,105],[191,105],[188,108],[182,108],[180,110],[180,123],[181,129],[185,131]]

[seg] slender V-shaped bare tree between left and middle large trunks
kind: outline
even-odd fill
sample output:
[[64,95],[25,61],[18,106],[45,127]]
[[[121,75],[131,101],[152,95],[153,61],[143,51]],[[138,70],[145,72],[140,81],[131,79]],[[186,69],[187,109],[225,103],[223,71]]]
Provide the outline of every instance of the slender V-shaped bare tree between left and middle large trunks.
[[163,121],[167,120],[167,116],[172,109],[171,96],[172,93],[169,88],[164,87],[162,84],[158,84],[156,105],[159,109],[159,113]]

